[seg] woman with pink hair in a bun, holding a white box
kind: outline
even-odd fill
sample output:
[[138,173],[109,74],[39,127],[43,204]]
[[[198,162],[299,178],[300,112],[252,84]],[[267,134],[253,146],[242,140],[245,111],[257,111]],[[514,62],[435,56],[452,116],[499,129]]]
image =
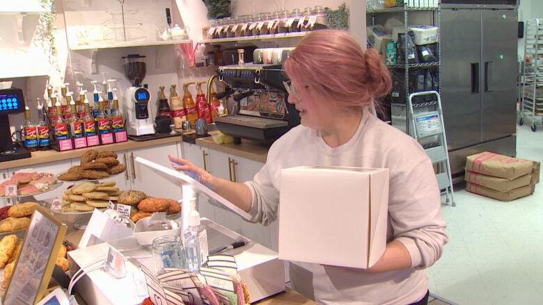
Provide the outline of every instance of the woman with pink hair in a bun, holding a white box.
[[253,181],[220,179],[179,158],[171,158],[174,168],[198,176],[264,225],[276,220],[283,168],[388,168],[387,245],[379,261],[368,270],[290,262],[292,287],[320,304],[426,304],[425,268],[441,256],[446,223],[430,158],[375,116],[376,98],[391,89],[383,60],[348,33],[320,30],[301,40],[284,69],[301,125],[274,142]]

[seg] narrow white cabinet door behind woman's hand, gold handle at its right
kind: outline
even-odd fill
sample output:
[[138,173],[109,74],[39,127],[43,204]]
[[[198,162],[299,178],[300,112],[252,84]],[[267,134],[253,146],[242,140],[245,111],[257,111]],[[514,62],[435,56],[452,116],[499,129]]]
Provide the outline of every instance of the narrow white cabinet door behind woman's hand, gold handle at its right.
[[[182,158],[189,160],[192,164],[210,170],[210,149],[183,142]],[[215,206],[210,204],[209,197],[206,195],[198,195],[198,212],[200,217],[207,217],[210,220],[215,220]]]

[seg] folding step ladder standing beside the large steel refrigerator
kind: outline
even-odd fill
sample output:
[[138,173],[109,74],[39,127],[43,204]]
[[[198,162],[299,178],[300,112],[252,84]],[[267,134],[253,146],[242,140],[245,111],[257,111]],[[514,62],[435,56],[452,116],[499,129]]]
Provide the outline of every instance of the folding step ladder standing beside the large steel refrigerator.
[[[430,101],[413,104],[414,97],[431,97]],[[434,99],[435,97],[435,99]],[[441,97],[436,91],[409,94],[409,135],[423,146],[426,154],[436,167],[437,184],[446,204],[456,206],[453,197],[453,179],[450,176],[450,163],[447,153],[447,139],[443,127]]]

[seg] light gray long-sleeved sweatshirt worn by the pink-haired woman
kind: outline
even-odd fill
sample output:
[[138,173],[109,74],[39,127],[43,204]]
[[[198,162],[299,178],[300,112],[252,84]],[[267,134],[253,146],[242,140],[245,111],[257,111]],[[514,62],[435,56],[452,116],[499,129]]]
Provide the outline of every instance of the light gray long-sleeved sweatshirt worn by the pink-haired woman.
[[301,165],[388,168],[387,242],[402,242],[412,263],[403,270],[370,273],[290,262],[294,289],[320,304],[411,304],[421,299],[428,289],[424,269],[441,256],[448,236],[432,163],[418,142],[368,111],[351,140],[339,147],[326,145],[318,131],[297,126],[274,142],[264,167],[246,182],[253,195],[253,222],[276,220],[281,170]]

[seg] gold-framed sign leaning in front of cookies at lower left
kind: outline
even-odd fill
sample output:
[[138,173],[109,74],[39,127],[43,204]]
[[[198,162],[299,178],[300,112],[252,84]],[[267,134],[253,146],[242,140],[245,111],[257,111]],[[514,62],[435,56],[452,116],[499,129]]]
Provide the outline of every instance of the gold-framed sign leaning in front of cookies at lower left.
[[36,208],[3,304],[33,305],[44,296],[65,233],[65,224],[46,208]]

